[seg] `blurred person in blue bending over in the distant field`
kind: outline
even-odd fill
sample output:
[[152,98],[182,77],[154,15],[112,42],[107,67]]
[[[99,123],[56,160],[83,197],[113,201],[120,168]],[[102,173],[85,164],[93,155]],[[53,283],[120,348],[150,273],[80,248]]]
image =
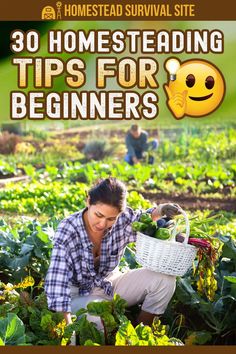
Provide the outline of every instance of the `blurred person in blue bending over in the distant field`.
[[[156,150],[159,143],[157,139],[150,142],[148,140],[148,133],[142,130],[137,124],[133,124],[126,134],[125,144],[127,154],[125,161],[130,165],[135,165],[143,158],[144,151]],[[148,158],[148,163],[153,164],[154,157],[152,155]]]

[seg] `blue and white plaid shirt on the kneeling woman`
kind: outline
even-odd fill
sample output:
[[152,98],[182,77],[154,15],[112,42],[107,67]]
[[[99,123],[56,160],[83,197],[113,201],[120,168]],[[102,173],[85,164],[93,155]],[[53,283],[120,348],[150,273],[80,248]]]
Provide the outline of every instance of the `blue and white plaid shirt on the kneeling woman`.
[[71,312],[70,285],[78,286],[78,295],[89,295],[94,287],[101,287],[112,295],[111,283],[105,278],[119,264],[126,245],[136,241],[131,223],[142,211],[126,208],[108,229],[102,239],[100,265],[96,272],[89,240],[83,222],[83,212],[74,213],[61,221],[54,238],[51,263],[45,280],[48,307],[51,310]]

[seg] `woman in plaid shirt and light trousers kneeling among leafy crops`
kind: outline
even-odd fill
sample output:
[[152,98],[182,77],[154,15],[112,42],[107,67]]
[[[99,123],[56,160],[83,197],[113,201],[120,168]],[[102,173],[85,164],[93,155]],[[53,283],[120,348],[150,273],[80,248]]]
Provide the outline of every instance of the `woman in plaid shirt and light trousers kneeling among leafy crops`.
[[[45,291],[48,307],[63,312],[67,324],[72,323],[71,313],[117,293],[128,306],[142,304],[137,323],[150,325],[174,293],[174,276],[144,268],[125,273],[118,269],[126,245],[136,241],[132,222],[142,213],[126,206],[126,194],[121,181],[100,180],[88,192],[87,207],[62,220],[57,229]],[[178,210],[178,205],[166,203],[149,212],[155,221]],[[99,317],[88,319],[100,327]]]

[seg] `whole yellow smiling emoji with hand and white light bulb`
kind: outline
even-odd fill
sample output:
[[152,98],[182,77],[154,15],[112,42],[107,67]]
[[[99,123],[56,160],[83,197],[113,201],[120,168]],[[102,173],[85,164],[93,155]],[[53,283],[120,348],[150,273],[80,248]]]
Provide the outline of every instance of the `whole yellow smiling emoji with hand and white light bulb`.
[[184,115],[202,117],[221,104],[225,82],[213,64],[205,60],[188,60],[180,65],[172,58],[167,60],[166,68],[170,73],[169,85],[164,85],[167,104],[176,119]]

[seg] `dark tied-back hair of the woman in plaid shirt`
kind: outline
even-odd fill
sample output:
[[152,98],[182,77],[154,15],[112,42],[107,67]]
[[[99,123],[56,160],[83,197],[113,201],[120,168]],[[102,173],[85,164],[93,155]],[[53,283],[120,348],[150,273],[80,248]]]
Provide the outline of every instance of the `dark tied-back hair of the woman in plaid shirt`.
[[126,208],[126,187],[123,182],[114,177],[100,179],[88,191],[91,205],[104,203],[123,211]]

